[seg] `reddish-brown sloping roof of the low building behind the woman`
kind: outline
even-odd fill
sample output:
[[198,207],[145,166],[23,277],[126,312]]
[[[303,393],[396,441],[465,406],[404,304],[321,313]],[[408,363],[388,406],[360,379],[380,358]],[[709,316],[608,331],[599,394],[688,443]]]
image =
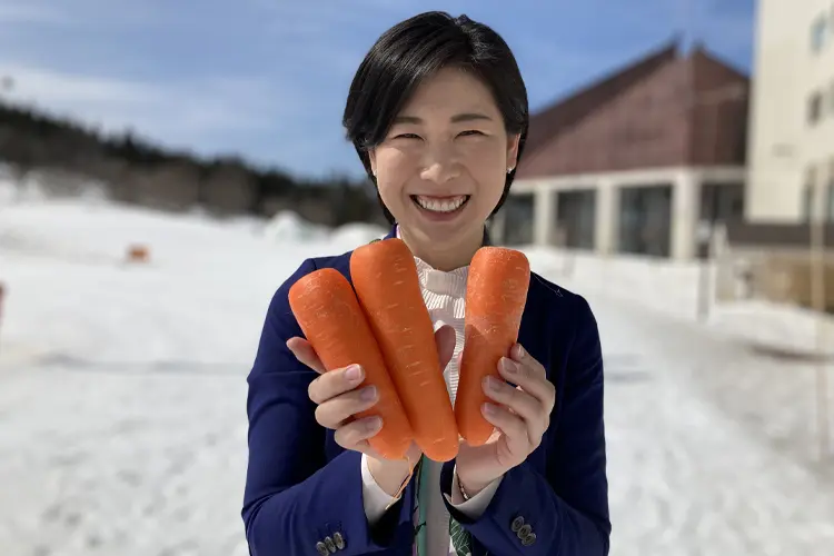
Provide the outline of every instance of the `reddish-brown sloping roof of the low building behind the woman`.
[[[532,115],[516,178],[617,171],[647,166],[744,163],[748,78],[708,52],[703,44],[694,44],[688,53],[681,52],[679,47],[678,40],[674,39]],[[681,67],[683,81],[672,78],[661,87],[674,87],[678,82],[681,87],[688,88],[692,95],[703,98],[713,95],[716,98],[727,97],[728,100],[729,89],[736,91],[733,95],[737,95],[737,98],[723,105],[728,110],[722,113],[719,123],[711,123],[717,119],[714,116],[717,109],[706,102],[705,106],[687,106],[687,96],[678,92],[675,96],[677,107],[659,108],[637,123],[628,123],[618,115],[612,120],[616,125],[610,135],[600,133],[599,127],[588,128],[593,131],[583,131],[584,135],[577,136],[582,139],[573,140],[572,132],[603,107],[677,66]],[[668,78],[677,73],[664,75]],[[643,107],[635,105],[635,109],[642,110]],[[624,106],[618,110],[628,111],[629,108]],[[688,115],[685,121],[678,122],[675,115],[681,110]],[[716,125],[718,127],[713,128]],[[679,126],[679,129],[674,129],[675,126]],[[717,138],[714,137],[716,133]],[[669,143],[669,135],[688,138]],[[596,149],[588,150],[589,145]]]

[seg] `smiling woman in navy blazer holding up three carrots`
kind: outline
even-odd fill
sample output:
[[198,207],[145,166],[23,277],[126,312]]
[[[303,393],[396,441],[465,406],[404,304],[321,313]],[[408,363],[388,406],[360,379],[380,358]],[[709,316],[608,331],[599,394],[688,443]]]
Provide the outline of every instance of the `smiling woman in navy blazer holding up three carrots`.
[[[411,249],[457,387],[468,264],[488,240],[522,155],[528,111],[506,43],[466,17],[404,21],[359,67],[344,123],[383,210]],[[608,553],[603,363],[587,302],[532,277],[505,381],[485,384],[496,434],[447,464],[387,461],[368,445],[378,417],[356,367],[325,374],[289,309],[301,276],[350,254],[306,260],[276,292],[249,376],[244,520],[255,556]],[[522,348],[520,346],[524,346]],[[411,465],[420,461],[416,447]],[[403,487],[403,488],[401,488]]]

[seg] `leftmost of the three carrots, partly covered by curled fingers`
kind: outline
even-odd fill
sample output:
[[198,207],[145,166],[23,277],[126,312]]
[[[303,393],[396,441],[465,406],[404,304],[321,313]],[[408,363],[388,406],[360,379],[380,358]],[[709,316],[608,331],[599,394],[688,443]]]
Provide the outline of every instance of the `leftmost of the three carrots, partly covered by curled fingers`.
[[330,371],[357,364],[365,370],[360,387],[374,385],[378,401],[356,417],[378,415],[383,428],[368,441],[386,459],[403,459],[414,439],[383,354],[350,284],[332,268],[315,270],[289,289],[292,314]]

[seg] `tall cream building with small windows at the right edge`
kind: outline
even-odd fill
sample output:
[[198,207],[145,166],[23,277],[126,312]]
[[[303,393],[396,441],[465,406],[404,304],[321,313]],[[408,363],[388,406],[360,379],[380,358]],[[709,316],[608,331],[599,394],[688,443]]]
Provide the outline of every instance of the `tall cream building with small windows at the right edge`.
[[834,222],[834,0],[759,0],[745,216]]

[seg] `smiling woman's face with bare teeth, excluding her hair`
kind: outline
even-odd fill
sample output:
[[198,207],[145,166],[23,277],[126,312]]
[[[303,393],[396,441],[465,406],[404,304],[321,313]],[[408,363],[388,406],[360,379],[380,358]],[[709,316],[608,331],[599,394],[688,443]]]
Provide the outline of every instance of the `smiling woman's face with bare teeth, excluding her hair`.
[[426,80],[371,149],[379,195],[410,239],[433,248],[480,241],[516,165],[489,89],[447,68]]

